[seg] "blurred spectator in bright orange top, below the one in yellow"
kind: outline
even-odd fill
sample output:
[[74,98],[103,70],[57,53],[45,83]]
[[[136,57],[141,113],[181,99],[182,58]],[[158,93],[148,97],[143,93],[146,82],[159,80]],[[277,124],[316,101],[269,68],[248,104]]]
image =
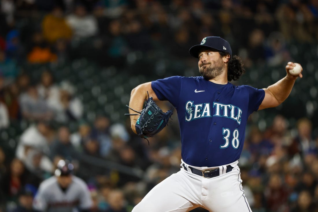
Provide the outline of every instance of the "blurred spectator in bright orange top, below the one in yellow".
[[42,32],[36,31],[32,35],[27,59],[30,63],[48,63],[57,60],[56,54],[43,38]]

